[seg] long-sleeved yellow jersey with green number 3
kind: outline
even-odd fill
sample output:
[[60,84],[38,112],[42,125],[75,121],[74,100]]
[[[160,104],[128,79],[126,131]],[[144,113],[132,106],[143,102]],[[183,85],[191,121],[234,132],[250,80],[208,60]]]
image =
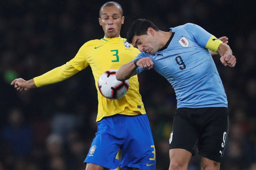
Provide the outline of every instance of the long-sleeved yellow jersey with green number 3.
[[145,114],[145,108],[139,93],[139,82],[137,75],[129,79],[128,92],[120,99],[108,99],[102,96],[98,88],[98,80],[101,74],[109,69],[118,70],[123,64],[133,60],[140,51],[126,42],[121,37],[102,38],[101,40],[90,40],[81,46],[76,56],[61,67],[35,77],[35,85],[52,84],[62,81],[76,74],[90,65],[98,93],[98,115],[96,122],[103,117],[115,114],[137,115]]

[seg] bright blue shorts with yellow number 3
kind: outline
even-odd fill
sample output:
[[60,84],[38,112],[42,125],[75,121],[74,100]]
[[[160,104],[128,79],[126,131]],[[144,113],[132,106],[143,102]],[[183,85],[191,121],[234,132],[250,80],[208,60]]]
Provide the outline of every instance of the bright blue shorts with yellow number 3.
[[[121,162],[116,154],[122,150]],[[98,130],[84,162],[105,168],[156,169],[156,154],[148,116],[117,114],[98,122]]]

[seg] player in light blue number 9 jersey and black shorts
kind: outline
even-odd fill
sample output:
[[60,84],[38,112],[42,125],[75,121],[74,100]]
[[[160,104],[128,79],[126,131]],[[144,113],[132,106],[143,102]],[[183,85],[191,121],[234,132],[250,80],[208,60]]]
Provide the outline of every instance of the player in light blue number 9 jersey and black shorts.
[[122,65],[116,78],[125,80],[153,68],[172,84],[177,96],[169,170],[187,169],[195,144],[202,156],[201,169],[219,170],[228,134],[227,96],[208,49],[220,54],[223,65],[234,67],[229,45],[192,23],[164,32],[144,19],[130,26],[127,41],[141,53]]

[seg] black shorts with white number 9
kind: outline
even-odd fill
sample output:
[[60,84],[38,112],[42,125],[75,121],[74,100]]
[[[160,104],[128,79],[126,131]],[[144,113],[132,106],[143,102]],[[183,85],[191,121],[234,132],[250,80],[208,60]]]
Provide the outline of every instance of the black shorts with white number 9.
[[[225,107],[178,108],[172,125],[170,149],[181,148],[221,162],[227,143],[229,119]],[[196,146],[196,147],[195,147]]]

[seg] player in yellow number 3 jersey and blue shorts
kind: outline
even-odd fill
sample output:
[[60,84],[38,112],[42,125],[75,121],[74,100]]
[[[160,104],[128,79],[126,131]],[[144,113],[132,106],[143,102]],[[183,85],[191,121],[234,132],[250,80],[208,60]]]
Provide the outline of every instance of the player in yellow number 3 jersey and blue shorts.
[[[120,37],[125,17],[118,3],[105,3],[99,14],[104,38],[86,42],[66,64],[29,81],[15,79],[11,85],[18,91],[38,88],[61,82],[90,65],[98,91],[99,106],[96,119],[98,130],[84,161],[87,163],[86,170],[115,169],[119,165],[125,169],[155,170],[154,141],[139,93],[137,76],[129,79],[129,90],[120,99],[103,97],[97,87],[103,72],[119,69],[140,52]],[[122,149],[121,162],[116,159],[119,148]]]

